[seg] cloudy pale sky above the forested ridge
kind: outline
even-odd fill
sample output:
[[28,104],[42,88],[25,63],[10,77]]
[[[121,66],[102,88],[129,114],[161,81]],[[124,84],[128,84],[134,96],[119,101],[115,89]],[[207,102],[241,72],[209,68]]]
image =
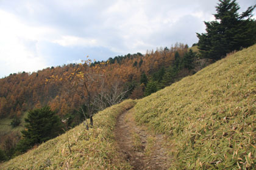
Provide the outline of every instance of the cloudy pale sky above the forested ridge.
[[[255,0],[236,1],[244,12]],[[218,0],[0,0],[0,78],[176,42],[191,46]],[[254,11],[255,15],[255,11]],[[255,18],[255,16],[254,16]]]

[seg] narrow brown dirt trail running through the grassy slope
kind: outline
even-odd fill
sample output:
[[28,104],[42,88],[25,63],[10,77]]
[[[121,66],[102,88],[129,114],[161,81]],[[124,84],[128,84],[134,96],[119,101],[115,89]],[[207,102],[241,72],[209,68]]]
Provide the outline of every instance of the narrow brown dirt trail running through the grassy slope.
[[171,144],[163,135],[154,135],[134,120],[134,109],[118,117],[115,138],[120,156],[129,161],[133,169],[168,169],[171,156],[166,153]]

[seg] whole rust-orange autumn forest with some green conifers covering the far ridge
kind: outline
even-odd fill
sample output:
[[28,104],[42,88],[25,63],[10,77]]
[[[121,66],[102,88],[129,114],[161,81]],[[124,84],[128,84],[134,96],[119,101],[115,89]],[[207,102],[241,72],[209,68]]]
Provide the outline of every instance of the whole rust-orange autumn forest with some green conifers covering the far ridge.
[[[196,45],[196,44],[194,44]],[[196,49],[196,46],[194,46]],[[187,45],[115,56],[107,61],[85,60],[79,64],[48,67],[33,73],[13,73],[0,80],[0,117],[21,126],[29,110],[49,106],[68,129],[99,110],[132,98],[143,98],[180,78],[192,75],[211,60],[199,58]],[[87,125],[88,126],[88,125]],[[20,132],[1,132],[1,149],[13,150]],[[24,150],[26,151],[26,150]],[[7,154],[8,155],[8,154]]]

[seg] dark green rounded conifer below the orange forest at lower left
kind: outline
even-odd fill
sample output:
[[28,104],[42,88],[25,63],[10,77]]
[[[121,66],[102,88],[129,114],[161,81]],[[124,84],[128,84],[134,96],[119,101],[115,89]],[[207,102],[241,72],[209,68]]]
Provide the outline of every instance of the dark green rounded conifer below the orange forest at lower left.
[[25,152],[35,144],[43,143],[63,132],[60,118],[49,106],[30,110],[25,122],[26,130],[21,131],[23,139],[17,145],[20,152]]

